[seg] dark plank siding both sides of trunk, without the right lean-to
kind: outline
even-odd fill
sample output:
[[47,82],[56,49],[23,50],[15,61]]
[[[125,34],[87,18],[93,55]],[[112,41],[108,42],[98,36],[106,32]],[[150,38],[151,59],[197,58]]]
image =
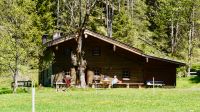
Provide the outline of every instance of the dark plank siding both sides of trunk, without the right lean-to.
[[[83,40],[83,51],[85,52],[85,59],[87,61],[87,70],[98,68],[101,74],[113,77],[117,75],[119,80],[122,80],[123,70],[130,71],[130,81],[125,82],[144,82],[141,62],[142,58],[126,50],[116,47],[113,50],[113,44],[105,43],[102,40],[88,37]],[[100,47],[101,55],[94,56],[92,50],[95,47]],[[52,46],[55,53],[55,61],[53,64],[53,74],[58,74],[62,71],[69,71],[71,65],[71,53],[66,53],[66,49],[75,51],[75,39],[63,42],[57,46]],[[135,57],[135,58],[134,58]]]

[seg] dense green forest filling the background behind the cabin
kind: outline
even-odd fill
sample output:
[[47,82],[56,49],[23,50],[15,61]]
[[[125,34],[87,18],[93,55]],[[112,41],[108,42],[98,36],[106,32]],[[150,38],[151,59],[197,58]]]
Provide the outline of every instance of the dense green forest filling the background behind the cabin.
[[66,36],[82,23],[144,53],[187,63],[179,76],[200,70],[200,0],[1,0],[0,75],[38,72],[42,36]]

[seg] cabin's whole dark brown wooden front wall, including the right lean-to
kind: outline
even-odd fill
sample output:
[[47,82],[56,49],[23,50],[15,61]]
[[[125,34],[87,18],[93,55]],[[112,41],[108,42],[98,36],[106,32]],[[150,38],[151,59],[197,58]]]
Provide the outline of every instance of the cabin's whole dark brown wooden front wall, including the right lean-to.
[[[70,68],[73,67],[71,52],[76,51],[76,46],[76,40],[72,39],[50,48],[55,54],[55,61],[52,65],[54,75],[62,71],[70,71]],[[166,85],[176,85],[176,66],[174,64],[155,59],[149,59],[146,62],[146,58],[142,56],[119,47],[113,48],[113,46],[113,44],[94,37],[84,38],[83,51],[87,61],[87,70],[100,69],[101,74],[110,77],[116,75],[119,80],[122,80],[122,72],[127,70],[130,71],[131,76],[131,80],[128,82],[146,83],[154,77],[155,80],[164,81]],[[100,47],[100,56],[92,54],[95,47]]]

